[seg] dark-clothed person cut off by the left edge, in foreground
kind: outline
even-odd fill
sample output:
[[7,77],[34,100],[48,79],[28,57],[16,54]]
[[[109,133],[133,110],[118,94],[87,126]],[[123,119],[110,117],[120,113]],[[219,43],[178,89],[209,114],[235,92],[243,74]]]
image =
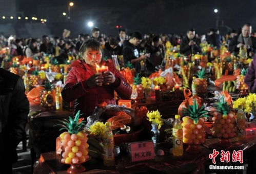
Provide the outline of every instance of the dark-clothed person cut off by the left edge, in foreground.
[[29,102],[21,77],[0,68],[0,143],[2,171],[11,173],[16,147],[25,133]]

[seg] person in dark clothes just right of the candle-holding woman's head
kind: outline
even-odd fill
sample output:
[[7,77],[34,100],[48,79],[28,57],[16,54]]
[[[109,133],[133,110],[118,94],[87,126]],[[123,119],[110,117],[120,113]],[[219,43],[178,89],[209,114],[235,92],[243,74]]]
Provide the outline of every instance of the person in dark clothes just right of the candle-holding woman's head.
[[112,55],[122,55],[122,48],[118,44],[118,40],[115,38],[110,38],[109,42],[105,43],[105,48],[103,50],[103,57],[111,59]]

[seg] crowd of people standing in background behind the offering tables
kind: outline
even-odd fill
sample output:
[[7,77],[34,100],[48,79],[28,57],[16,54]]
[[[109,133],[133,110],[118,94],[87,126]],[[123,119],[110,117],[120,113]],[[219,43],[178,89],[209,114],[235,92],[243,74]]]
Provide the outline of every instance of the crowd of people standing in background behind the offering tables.
[[[246,28],[246,29],[244,29]],[[244,30],[246,31],[244,31]],[[201,53],[200,44],[210,44],[215,49],[220,49],[225,44],[229,51],[238,54],[239,47],[244,43],[248,48],[248,54],[253,56],[256,31],[251,31],[251,25],[245,24],[241,31],[232,30],[226,35],[221,35],[219,30],[210,29],[207,34],[199,35],[194,29],[188,29],[184,35],[178,34],[144,34],[139,32],[127,33],[120,29],[114,35],[107,36],[97,27],[92,29],[91,34],[79,34],[77,38],[71,37],[49,37],[42,38],[16,38],[15,35],[9,38],[0,37],[0,48],[9,47],[11,56],[40,57],[44,54],[53,55],[59,63],[64,63],[68,55],[79,55],[80,47],[88,39],[95,39],[100,42],[104,59],[112,55],[123,56],[119,59],[121,67],[128,62],[133,64],[136,71],[143,71],[148,75],[164,64],[165,47],[169,42],[173,47],[179,47],[180,53],[185,56]],[[250,39],[248,39],[250,38]],[[141,65],[144,60],[144,66]]]

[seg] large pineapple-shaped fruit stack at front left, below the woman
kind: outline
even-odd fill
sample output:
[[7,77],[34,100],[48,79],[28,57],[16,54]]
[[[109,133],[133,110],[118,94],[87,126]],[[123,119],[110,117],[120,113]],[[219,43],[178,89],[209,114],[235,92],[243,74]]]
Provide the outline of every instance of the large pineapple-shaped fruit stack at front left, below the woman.
[[60,135],[62,143],[62,163],[66,164],[78,164],[83,163],[89,159],[87,144],[87,134],[83,132],[83,127],[85,126],[84,121],[78,122],[80,111],[72,119],[62,121],[63,128],[68,132],[64,132]]

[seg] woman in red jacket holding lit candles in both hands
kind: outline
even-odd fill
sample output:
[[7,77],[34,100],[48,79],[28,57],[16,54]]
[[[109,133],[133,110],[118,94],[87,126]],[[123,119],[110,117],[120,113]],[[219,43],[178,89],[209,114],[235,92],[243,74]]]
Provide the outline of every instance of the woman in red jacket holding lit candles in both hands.
[[[116,104],[114,91],[122,99],[130,99],[132,89],[121,73],[115,69],[112,61],[102,59],[100,43],[94,39],[87,40],[80,52],[84,60],[72,63],[62,90],[65,101],[75,100],[74,113],[81,110],[83,117],[90,116],[95,106],[102,102]],[[96,64],[108,66],[107,72],[96,73]],[[108,83],[108,84],[107,84]]]

